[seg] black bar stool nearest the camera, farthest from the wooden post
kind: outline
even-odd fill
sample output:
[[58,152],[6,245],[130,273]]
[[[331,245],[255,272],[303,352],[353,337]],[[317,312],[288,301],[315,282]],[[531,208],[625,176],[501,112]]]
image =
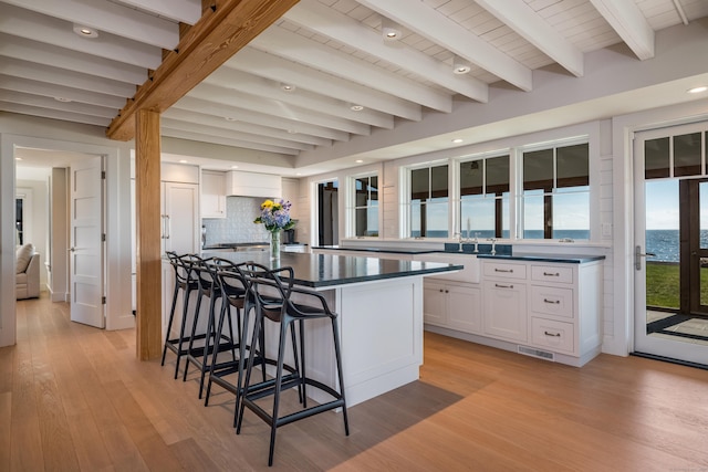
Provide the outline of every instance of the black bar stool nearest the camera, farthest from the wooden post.
[[[325,298],[322,294],[309,290],[294,287],[294,274],[292,268],[280,268],[270,270],[263,265],[256,263],[247,263],[239,265],[241,272],[249,282],[249,290],[253,294],[256,302],[256,323],[253,324],[252,338],[259,338],[262,321],[270,319],[280,325],[280,336],[278,346],[278,358],[275,367],[275,378],[251,385],[251,375],[254,361],[254,350],[249,353],[248,364],[246,367],[246,378],[243,380],[243,392],[239,406],[236,433],[240,433],[243,421],[244,409],[248,407],[259,418],[271,427],[270,448],[268,455],[268,465],[273,464],[273,452],[275,447],[275,432],[279,427],[291,422],[312,417],[314,415],[342,408],[344,419],[344,432],[350,434],[348,418],[346,413],[346,400],[344,396],[344,378],[342,375],[342,356],[340,350],[340,332],[337,327],[337,315],[330,311]],[[273,296],[273,293],[275,295]],[[291,296],[298,294],[299,300],[313,303],[305,305],[294,303]],[[304,326],[303,323],[311,319],[329,318],[332,323],[332,337],[334,343],[334,357],[336,363],[336,374],[339,380],[339,391],[324,385],[317,380],[308,378],[305,374],[305,350],[304,350]],[[293,325],[298,325],[298,335],[300,337],[300,346],[295,343],[295,329]],[[288,331],[292,334],[293,349],[295,350],[295,368],[289,375],[283,376],[285,340]],[[333,400],[325,403],[308,407],[306,386],[312,386],[326,394]],[[298,387],[300,402],[303,409],[279,416],[280,395],[283,390]],[[273,396],[272,411],[269,413],[256,400],[268,396]]]

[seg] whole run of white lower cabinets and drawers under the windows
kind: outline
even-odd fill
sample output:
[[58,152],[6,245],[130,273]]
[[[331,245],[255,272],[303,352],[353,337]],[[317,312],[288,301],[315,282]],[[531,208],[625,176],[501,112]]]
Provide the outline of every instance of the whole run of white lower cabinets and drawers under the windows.
[[480,261],[481,284],[425,281],[426,324],[579,367],[600,353],[602,261]]

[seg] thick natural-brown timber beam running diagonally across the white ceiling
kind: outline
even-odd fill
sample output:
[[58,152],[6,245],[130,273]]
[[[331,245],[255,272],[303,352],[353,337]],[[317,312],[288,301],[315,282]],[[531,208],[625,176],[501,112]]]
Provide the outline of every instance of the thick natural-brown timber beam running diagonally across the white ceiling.
[[169,108],[296,2],[223,0],[218,2],[216,11],[208,9],[113,119],[106,136],[132,139],[138,109],[162,113]]

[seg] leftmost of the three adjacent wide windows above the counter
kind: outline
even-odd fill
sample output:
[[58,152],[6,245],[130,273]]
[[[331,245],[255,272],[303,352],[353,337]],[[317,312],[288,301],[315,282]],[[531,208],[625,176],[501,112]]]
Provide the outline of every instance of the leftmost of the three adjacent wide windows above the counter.
[[448,166],[410,169],[409,174],[409,237],[448,237]]

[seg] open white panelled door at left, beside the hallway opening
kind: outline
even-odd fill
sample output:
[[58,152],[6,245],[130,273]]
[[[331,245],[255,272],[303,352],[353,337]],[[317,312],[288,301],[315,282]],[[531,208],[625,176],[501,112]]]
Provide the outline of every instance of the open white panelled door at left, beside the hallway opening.
[[71,166],[71,319],[105,327],[103,304],[103,158]]

